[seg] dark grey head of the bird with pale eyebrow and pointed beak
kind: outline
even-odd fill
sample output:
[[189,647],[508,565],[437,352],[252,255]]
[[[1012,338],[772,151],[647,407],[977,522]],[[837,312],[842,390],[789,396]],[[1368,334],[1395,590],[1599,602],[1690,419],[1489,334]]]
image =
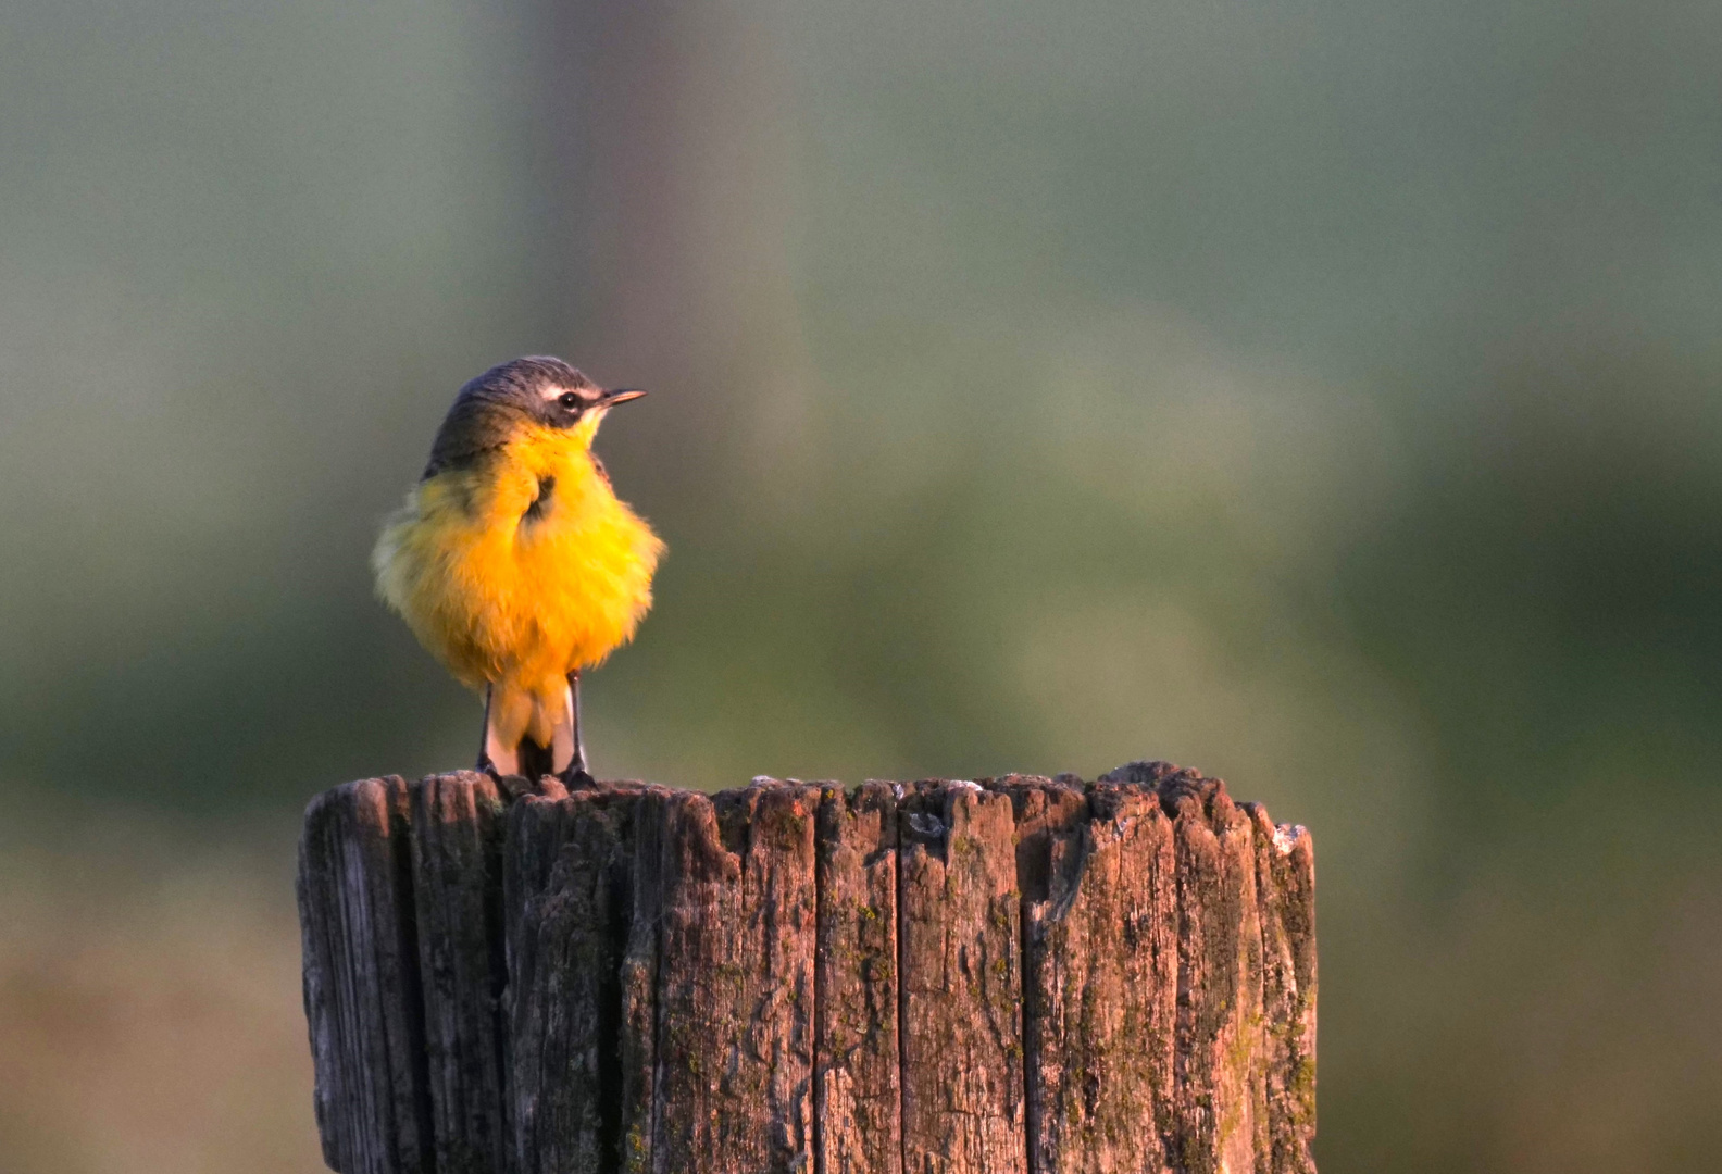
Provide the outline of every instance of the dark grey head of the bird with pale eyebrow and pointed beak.
[[506,444],[523,425],[570,429],[594,408],[611,408],[644,394],[634,387],[604,391],[549,355],[529,355],[492,367],[455,396],[430,446],[424,475],[467,468]]

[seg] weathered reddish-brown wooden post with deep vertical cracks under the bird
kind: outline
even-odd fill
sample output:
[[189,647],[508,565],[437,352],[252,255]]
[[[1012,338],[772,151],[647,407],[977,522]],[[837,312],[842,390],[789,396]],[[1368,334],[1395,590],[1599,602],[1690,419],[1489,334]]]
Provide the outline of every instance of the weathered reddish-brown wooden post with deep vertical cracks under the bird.
[[305,1014],[341,1174],[1314,1171],[1314,854],[1099,782],[319,795]]

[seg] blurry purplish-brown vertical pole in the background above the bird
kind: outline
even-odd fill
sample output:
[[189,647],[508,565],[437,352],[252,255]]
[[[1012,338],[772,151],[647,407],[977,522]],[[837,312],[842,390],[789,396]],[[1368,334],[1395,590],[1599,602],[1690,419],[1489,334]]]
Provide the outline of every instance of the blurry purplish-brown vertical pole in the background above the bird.
[[773,0],[536,12],[558,346],[658,396],[651,429],[615,429],[608,449],[634,465],[630,485],[680,501],[792,475],[809,379],[789,14]]

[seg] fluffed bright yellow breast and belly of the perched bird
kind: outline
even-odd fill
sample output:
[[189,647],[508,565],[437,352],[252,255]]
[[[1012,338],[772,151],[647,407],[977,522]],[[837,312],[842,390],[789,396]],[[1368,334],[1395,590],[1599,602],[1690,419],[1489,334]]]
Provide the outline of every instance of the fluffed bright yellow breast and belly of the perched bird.
[[467,685],[556,695],[651,608],[663,542],[610,489],[594,429],[530,427],[422,480],[377,542],[384,601]]

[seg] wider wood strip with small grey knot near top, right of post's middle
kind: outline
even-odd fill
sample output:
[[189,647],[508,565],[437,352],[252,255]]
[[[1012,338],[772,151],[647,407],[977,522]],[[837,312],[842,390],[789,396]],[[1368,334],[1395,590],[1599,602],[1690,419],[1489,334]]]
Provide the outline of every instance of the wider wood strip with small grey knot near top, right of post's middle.
[[1011,797],[918,785],[899,837],[902,1169],[1026,1172]]

